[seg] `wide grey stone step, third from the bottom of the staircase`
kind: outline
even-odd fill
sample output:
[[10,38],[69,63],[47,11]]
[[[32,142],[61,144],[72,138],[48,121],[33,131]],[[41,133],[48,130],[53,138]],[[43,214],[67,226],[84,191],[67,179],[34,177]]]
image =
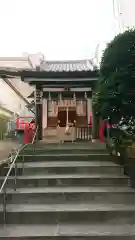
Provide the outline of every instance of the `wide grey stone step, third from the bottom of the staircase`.
[[[123,203],[135,204],[135,190],[129,187],[46,187],[6,190],[7,203]],[[3,199],[0,198],[0,203]]]

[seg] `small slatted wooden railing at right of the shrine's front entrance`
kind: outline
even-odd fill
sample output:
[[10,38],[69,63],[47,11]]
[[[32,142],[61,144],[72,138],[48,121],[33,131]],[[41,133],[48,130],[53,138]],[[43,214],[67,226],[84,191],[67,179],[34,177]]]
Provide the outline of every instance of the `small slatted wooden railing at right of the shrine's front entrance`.
[[91,140],[91,128],[90,126],[76,127],[76,140],[78,141],[90,141]]

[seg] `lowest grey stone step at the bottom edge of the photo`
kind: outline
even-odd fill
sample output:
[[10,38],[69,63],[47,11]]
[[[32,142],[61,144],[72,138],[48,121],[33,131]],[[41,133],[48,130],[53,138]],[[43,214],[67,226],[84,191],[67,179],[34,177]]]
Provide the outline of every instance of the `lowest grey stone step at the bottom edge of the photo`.
[[12,240],[133,240],[135,225],[128,224],[44,224],[3,225],[0,239]]

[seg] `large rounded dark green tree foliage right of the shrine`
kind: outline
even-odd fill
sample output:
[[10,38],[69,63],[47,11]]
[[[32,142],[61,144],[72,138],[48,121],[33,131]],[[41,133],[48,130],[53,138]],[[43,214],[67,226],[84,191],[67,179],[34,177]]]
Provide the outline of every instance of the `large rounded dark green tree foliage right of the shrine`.
[[106,47],[93,105],[104,119],[135,118],[135,30],[116,36]]

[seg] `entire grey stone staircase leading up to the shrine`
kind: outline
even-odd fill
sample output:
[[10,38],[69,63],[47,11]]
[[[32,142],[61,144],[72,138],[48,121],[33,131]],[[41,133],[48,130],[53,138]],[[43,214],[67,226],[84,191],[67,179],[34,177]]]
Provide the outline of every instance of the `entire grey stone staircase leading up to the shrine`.
[[135,191],[103,145],[28,147],[13,184],[4,226],[0,198],[0,239],[135,239]]

